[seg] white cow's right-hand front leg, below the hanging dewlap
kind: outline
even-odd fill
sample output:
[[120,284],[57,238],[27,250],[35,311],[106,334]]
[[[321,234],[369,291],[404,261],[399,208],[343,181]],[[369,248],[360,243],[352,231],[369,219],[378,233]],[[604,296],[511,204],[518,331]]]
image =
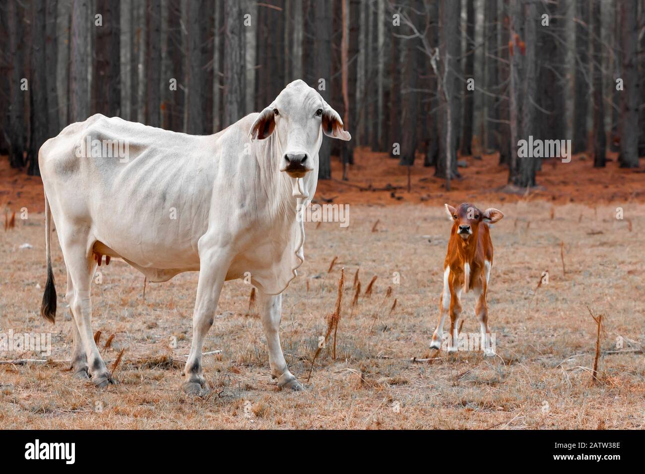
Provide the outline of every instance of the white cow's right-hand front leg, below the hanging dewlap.
[[282,294],[267,295],[263,291],[259,293],[259,308],[266,343],[269,346],[269,366],[271,367],[272,379],[278,380],[280,388],[291,390],[303,390],[303,386],[293,377],[286,368],[286,362],[280,346],[280,319],[282,317]]

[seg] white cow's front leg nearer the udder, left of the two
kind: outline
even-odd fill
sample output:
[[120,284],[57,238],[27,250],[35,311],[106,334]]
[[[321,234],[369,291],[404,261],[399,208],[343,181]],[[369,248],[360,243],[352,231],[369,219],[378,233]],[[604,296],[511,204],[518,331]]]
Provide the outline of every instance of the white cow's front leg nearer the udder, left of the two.
[[197,297],[193,310],[193,341],[190,344],[190,354],[186,360],[182,384],[187,395],[204,394],[201,353],[204,338],[213,325],[219,293],[222,291],[226,272],[228,272],[228,260],[224,259],[217,250],[200,249],[199,266]]

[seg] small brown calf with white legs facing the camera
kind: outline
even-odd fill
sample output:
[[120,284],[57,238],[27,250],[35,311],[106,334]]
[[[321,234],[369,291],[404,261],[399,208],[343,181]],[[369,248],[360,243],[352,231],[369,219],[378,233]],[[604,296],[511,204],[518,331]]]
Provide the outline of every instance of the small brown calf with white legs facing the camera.
[[488,308],[486,308],[486,287],[493,264],[493,242],[490,240],[488,226],[504,214],[495,208],[481,212],[473,204],[464,202],[457,209],[446,204],[446,213],[453,222],[448,241],[448,253],[444,261],[444,288],[439,305],[439,324],[432,335],[430,348],[441,349],[443,324],[446,311],[450,312],[450,351],[457,350],[459,328],[457,322],[461,315],[461,292],[474,290],[477,302],[475,316],[481,326],[481,346],[486,355],[493,355],[488,332]]

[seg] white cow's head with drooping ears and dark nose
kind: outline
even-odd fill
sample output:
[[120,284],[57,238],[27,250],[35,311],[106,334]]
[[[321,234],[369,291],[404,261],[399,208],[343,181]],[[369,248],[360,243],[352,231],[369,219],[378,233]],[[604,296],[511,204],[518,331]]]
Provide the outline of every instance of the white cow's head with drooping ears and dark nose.
[[264,140],[272,133],[280,156],[280,171],[301,178],[315,169],[323,135],[341,140],[352,136],[342,120],[316,90],[301,80],[288,84],[255,119],[249,135]]

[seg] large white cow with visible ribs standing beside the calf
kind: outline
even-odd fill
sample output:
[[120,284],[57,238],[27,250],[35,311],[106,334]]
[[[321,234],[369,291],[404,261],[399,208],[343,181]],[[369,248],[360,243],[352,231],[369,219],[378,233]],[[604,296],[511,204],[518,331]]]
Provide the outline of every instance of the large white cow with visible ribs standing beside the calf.
[[[39,152],[48,272],[41,315],[55,320],[53,218],[76,322],[75,377],[91,377],[101,387],[114,383],[91,326],[90,285],[96,262],[106,255],[154,282],[199,271],[186,393],[203,393],[201,352],[224,281],[249,273],[259,290],[271,375],[281,388],[302,390],[280,346],[281,293],[304,259],[303,222],[296,214],[315,193],[323,133],[351,138],[321,95],[294,81],[262,112],[215,135],[93,115],[48,140]],[[115,143],[127,153],[108,157],[103,150],[92,157],[101,144]]]

